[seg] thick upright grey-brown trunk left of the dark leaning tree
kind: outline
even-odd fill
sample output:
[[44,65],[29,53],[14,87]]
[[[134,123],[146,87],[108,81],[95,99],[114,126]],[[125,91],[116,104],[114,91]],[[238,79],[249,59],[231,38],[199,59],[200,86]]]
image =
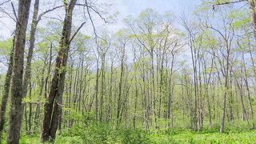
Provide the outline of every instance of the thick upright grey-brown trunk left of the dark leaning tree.
[[14,45],[14,65],[10,110],[10,129],[8,143],[19,143],[20,130],[22,127],[22,76],[24,65],[24,50],[26,42],[26,28],[30,14],[31,0],[18,2],[18,22],[16,24],[16,39]]

